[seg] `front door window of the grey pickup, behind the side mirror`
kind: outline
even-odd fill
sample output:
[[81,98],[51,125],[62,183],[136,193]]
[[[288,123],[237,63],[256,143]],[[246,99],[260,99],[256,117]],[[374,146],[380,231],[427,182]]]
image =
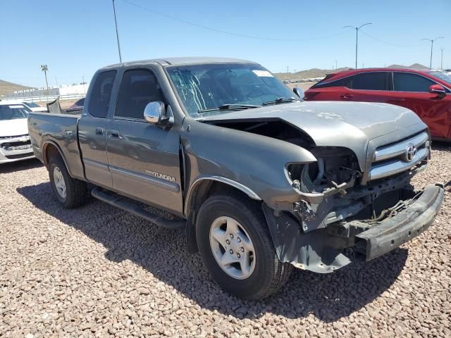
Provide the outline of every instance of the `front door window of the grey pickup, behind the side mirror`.
[[144,108],[152,101],[166,103],[154,73],[144,69],[127,70],[119,89],[116,116],[144,120]]

